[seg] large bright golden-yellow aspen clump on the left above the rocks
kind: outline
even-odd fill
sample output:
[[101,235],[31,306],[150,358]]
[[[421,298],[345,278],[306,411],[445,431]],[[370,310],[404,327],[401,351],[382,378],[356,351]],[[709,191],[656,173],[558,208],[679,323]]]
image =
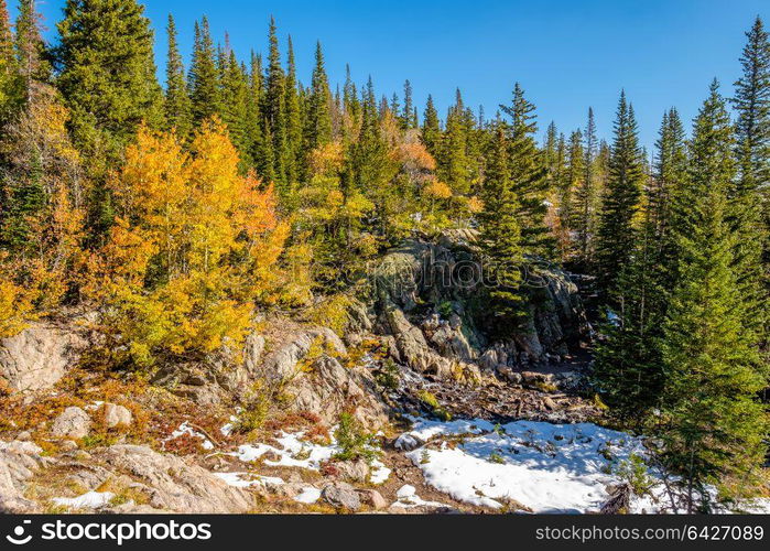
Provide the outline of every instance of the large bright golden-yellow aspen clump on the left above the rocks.
[[288,228],[272,186],[238,173],[225,127],[202,126],[187,154],[173,132],[141,128],[112,190],[119,216],[91,259],[91,298],[120,363],[239,349],[272,289]]

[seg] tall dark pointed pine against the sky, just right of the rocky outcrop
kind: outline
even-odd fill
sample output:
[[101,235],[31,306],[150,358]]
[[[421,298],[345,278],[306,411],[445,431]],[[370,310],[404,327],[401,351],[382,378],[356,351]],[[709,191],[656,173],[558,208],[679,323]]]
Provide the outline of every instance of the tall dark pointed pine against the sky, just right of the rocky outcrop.
[[636,242],[635,217],[639,210],[644,172],[633,108],[620,95],[615,121],[615,141],[609,159],[609,176],[599,212],[596,259],[600,296],[610,307],[618,306],[617,283],[629,263]]

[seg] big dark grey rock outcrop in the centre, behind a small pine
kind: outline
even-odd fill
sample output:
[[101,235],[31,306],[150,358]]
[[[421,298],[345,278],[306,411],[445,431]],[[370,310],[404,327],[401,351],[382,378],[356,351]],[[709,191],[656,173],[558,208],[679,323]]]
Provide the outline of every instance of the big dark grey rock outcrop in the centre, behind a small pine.
[[[534,258],[523,267],[528,325],[511,327],[505,336],[486,311],[474,238],[473,230],[464,230],[445,234],[440,245],[405,241],[376,267],[375,328],[392,339],[393,359],[440,378],[475,376],[478,368],[505,376],[511,368],[567,355],[586,337],[589,327],[577,287]],[[491,339],[491,328],[503,336]]]

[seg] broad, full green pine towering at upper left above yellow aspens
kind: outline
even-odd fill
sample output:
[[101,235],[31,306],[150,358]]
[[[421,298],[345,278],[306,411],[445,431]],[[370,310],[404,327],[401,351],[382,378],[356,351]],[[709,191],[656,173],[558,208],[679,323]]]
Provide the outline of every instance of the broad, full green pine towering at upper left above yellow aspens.
[[67,0],[57,26],[57,84],[75,143],[111,160],[141,121],[162,123],[150,21],[135,0]]

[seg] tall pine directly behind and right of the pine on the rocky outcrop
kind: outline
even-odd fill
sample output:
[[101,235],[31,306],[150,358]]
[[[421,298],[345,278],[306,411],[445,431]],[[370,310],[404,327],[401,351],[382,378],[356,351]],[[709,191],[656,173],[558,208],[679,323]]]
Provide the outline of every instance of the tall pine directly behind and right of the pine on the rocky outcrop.
[[538,131],[534,106],[524,98],[519,83],[513,87],[510,106],[500,106],[512,119],[509,129],[509,169],[513,193],[519,202],[521,237],[528,250],[550,256],[551,242],[545,226],[547,171],[534,136]]

